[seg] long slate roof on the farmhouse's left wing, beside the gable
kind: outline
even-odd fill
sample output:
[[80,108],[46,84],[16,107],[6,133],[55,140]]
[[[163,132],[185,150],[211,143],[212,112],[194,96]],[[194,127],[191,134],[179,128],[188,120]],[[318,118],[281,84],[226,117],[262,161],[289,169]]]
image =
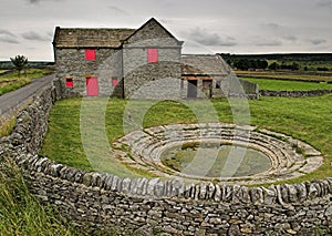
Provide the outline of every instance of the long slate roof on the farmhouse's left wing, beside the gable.
[[59,48],[118,48],[134,29],[55,29],[53,45]]

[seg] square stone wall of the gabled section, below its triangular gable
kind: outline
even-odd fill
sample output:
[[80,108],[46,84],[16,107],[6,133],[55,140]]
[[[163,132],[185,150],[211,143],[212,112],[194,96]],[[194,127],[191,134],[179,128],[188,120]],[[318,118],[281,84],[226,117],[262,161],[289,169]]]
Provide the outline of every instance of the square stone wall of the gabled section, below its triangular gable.
[[124,96],[126,99],[179,99],[181,98],[180,47],[165,48],[160,42],[158,62],[147,62],[148,44],[123,49]]

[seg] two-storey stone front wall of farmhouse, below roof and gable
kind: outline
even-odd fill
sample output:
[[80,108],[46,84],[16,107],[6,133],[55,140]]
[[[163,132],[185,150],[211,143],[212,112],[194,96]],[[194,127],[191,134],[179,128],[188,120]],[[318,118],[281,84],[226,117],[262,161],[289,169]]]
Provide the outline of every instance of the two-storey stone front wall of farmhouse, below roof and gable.
[[[163,83],[154,82],[156,88],[153,88],[152,93],[146,92],[144,99],[155,98],[155,95],[158,95],[157,99],[165,98],[169,92],[174,98],[179,98],[181,93],[179,47],[158,48],[159,62],[157,63],[147,63],[147,48],[97,49],[95,61],[85,60],[84,49],[56,49],[55,54],[58,79],[55,83],[59,88],[58,94],[61,94],[60,99],[85,96],[89,76],[97,78],[98,93],[102,96],[122,98],[125,94],[126,98],[131,98],[139,88],[157,80]],[[122,71],[122,63],[124,63],[124,71]],[[73,88],[66,88],[66,78],[73,79]],[[167,82],[166,78],[176,81]],[[117,86],[112,84],[113,79],[118,81]],[[160,95],[163,94],[160,91],[165,94]]]

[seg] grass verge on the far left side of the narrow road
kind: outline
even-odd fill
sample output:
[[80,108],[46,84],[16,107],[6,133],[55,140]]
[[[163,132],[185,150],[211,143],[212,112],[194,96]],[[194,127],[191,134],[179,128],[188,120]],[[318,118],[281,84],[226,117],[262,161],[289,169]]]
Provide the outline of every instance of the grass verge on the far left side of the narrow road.
[[31,80],[37,78],[42,78],[52,73],[49,70],[42,69],[28,69],[25,74],[18,76],[18,72],[13,71],[6,75],[0,75],[0,95],[11,92],[13,90],[20,89],[31,82]]

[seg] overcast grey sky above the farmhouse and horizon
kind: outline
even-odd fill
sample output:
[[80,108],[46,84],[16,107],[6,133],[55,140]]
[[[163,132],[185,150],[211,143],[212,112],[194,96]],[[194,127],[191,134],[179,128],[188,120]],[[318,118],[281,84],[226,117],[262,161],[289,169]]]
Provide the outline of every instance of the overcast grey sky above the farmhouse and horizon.
[[332,0],[1,0],[0,60],[53,61],[63,28],[139,28],[156,18],[184,53],[332,52]]

